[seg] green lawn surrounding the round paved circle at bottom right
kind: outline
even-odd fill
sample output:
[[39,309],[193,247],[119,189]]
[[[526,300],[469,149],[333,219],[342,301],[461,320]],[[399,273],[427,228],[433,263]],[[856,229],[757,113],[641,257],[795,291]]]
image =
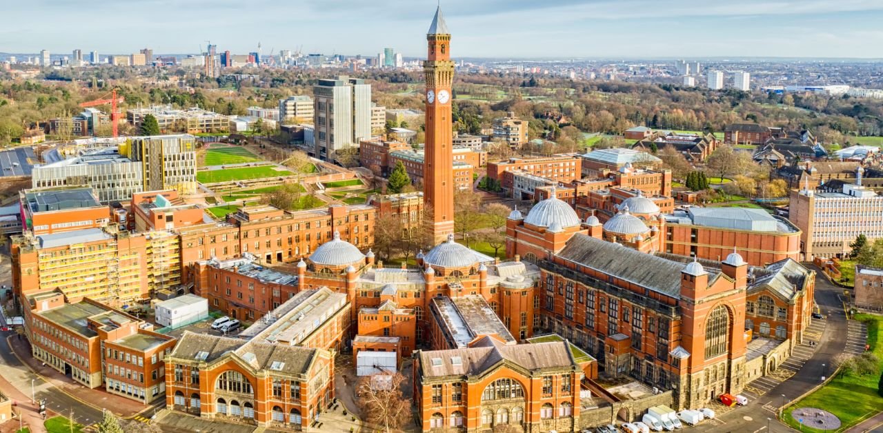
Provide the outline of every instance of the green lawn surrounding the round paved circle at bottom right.
[[[883,360],[883,342],[880,341],[880,325],[883,324],[883,316],[872,316],[870,314],[857,314],[856,320],[864,322],[868,326],[868,344],[878,359]],[[878,366],[883,367],[883,361]],[[791,417],[791,412],[797,407],[819,407],[825,409],[832,414],[837,415],[842,422],[841,428],[837,431],[849,429],[850,426],[862,421],[868,416],[872,416],[883,411],[883,398],[877,393],[877,383],[879,374],[870,374],[858,376],[848,373],[843,376],[834,377],[831,382],[819,388],[818,391],[811,393],[806,398],[796,402],[792,407],[785,411],[784,422],[795,429],[802,431],[822,432],[830,430],[812,429],[803,426]]]

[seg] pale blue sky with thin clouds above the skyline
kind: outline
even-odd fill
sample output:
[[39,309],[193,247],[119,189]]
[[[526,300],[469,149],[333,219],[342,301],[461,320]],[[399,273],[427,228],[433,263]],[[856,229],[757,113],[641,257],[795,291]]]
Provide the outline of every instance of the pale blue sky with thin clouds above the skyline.
[[[0,52],[423,56],[435,0],[4,0]],[[454,56],[883,57],[883,0],[442,0]]]

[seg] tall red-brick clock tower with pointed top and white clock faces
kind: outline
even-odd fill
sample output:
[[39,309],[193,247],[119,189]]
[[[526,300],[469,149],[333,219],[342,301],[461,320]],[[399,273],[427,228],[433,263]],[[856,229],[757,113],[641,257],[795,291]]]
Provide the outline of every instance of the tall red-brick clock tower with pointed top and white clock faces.
[[454,233],[454,152],[451,119],[451,83],[454,62],[450,60],[450,33],[435,10],[433,24],[426,33],[428,55],[423,63],[426,74],[426,153],[423,165],[423,194],[433,209],[433,235],[436,243]]

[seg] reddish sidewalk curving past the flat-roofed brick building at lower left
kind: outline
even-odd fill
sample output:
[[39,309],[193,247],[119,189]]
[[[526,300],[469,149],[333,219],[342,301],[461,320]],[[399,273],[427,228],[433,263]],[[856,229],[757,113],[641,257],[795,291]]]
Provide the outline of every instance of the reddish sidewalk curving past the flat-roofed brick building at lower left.
[[104,392],[102,388],[89,389],[82,384],[74,382],[70,377],[64,376],[57,370],[42,365],[40,360],[31,355],[30,342],[23,336],[13,336],[9,339],[9,342],[12,352],[29,369],[40,375],[49,384],[68,394],[73,399],[79,400],[84,405],[95,407],[98,410],[109,409],[123,418],[132,418],[132,416],[148,409],[153,410],[153,407],[150,405],[144,405],[132,399]]

